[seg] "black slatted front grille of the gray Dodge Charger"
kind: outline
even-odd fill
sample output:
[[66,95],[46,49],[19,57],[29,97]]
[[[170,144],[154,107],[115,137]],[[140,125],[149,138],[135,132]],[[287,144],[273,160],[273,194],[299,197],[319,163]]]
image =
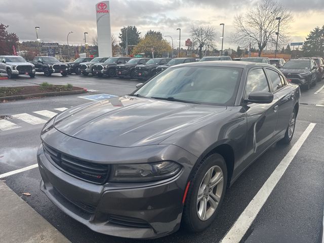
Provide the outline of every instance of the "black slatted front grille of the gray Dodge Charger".
[[55,163],[54,166],[61,168],[61,170],[67,174],[96,184],[103,184],[107,181],[109,175],[108,165],[74,158],[57,151],[45,143],[43,143],[43,148],[44,152],[48,154]]

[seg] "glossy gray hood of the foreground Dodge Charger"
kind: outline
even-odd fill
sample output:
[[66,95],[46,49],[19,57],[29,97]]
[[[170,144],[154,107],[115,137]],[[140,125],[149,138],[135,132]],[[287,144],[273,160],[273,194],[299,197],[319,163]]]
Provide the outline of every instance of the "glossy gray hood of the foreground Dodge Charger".
[[[199,107],[202,107],[199,109]],[[89,142],[134,147],[159,144],[178,131],[226,107],[115,97],[64,111],[56,116],[60,132]]]

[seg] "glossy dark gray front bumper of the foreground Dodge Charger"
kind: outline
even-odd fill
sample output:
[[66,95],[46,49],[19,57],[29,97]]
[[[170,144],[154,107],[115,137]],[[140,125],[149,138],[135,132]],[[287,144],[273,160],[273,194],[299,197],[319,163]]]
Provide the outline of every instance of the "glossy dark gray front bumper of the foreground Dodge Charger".
[[[179,153],[179,147],[173,147],[177,150],[174,152]],[[184,153],[188,152],[181,149],[179,158],[183,159]],[[191,154],[188,156],[196,159]],[[96,232],[128,238],[157,238],[180,227],[190,166],[164,182],[99,185],[58,169],[42,145],[37,151],[37,161],[42,176],[41,190],[64,213]]]

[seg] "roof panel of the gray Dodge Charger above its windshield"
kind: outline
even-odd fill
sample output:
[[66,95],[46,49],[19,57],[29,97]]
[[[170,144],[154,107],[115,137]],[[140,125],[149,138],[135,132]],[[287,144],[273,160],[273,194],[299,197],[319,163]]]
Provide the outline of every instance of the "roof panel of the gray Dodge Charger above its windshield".
[[208,62],[189,62],[173,67],[184,67],[184,66],[210,66],[210,67],[236,67],[236,68],[249,68],[253,66],[260,67],[272,67],[272,65],[267,63],[256,63],[256,62],[246,62],[246,61],[208,61]]

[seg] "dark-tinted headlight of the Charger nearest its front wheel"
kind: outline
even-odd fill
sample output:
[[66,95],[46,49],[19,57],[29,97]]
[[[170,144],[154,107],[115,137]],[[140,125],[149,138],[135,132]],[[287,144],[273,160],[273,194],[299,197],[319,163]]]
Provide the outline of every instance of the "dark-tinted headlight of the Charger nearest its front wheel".
[[177,175],[181,166],[172,161],[150,164],[113,165],[111,182],[149,182],[165,180]]

